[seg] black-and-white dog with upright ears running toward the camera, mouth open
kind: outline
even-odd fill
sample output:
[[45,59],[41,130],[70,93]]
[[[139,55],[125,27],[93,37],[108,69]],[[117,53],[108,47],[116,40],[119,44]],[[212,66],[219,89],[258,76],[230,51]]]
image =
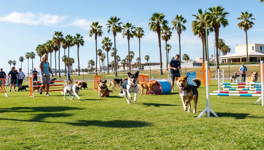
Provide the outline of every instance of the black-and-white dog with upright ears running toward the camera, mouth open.
[[131,93],[135,94],[134,102],[136,102],[136,96],[138,95],[138,73],[139,71],[136,71],[134,74],[128,72],[129,79],[122,82],[122,91],[119,93],[119,96],[125,96],[128,104],[131,102]]

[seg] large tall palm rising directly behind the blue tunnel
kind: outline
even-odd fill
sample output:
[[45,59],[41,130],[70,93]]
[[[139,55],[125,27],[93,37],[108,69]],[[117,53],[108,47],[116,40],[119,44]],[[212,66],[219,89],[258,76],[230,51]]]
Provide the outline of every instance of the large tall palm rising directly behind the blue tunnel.
[[152,17],[149,19],[149,29],[153,32],[157,32],[158,34],[158,43],[159,43],[159,63],[160,63],[160,71],[159,75],[163,75],[162,71],[162,57],[161,57],[161,26],[165,26],[168,24],[167,20],[164,20],[165,15],[163,13],[153,13]]

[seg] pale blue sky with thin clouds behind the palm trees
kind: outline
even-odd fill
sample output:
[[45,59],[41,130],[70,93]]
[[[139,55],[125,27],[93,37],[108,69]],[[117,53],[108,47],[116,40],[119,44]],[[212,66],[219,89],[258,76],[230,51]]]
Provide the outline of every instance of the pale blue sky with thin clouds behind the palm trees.
[[[10,70],[8,60],[16,60],[16,68],[20,67],[18,58],[25,57],[26,52],[34,51],[38,44],[43,44],[50,40],[54,31],[62,31],[64,35],[75,35],[80,33],[84,36],[85,44],[79,49],[80,66],[87,67],[90,59],[95,60],[95,40],[89,38],[89,25],[92,21],[99,21],[103,25],[103,37],[110,37],[113,41],[113,34],[107,33],[105,24],[111,16],[121,18],[122,23],[130,22],[135,27],[141,26],[145,31],[145,36],[141,39],[141,60],[145,62],[144,56],[150,53],[151,62],[159,62],[159,49],[157,34],[150,31],[148,27],[149,18],[154,12],[164,13],[169,26],[170,22],[177,14],[187,19],[185,24],[187,30],[181,34],[181,54],[188,54],[191,59],[202,57],[201,40],[194,36],[191,30],[191,22],[194,20],[193,14],[201,8],[203,11],[209,7],[220,5],[226,8],[230,14],[227,19],[229,25],[220,28],[219,38],[225,40],[230,46],[231,53],[234,53],[234,46],[246,44],[245,32],[237,27],[241,11],[253,13],[254,27],[248,31],[248,43],[264,44],[263,38],[263,14],[264,4],[259,0],[252,1],[3,1],[0,0],[0,59],[4,71]],[[102,38],[103,38],[102,37]],[[98,38],[97,46],[101,48],[101,39]],[[214,54],[214,33],[209,35],[209,55]],[[172,45],[169,58],[178,54],[178,35],[173,31],[171,40],[168,44]],[[162,61],[166,62],[164,50],[165,42],[162,45]],[[128,53],[127,39],[122,38],[121,34],[116,37],[117,55],[124,59]],[[138,39],[130,40],[130,50],[135,52],[135,59],[139,56]],[[61,49],[62,57],[64,49]],[[70,57],[75,59],[73,68],[77,68],[77,46],[70,48]],[[58,68],[58,53],[57,53]],[[52,54],[52,68],[55,68],[54,53]],[[109,62],[113,58],[109,55]],[[99,61],[98,61],[99,62]],[[31,61],[30,61],[31,63]],[[33,60],[34,67],[38,68],[39,57]],[[23,62],[27,70],[27,60]],[[60,67],[64,68],[63,63]],[[99,64],[98,64],[99,65]],[[30,64],[31,66],[31,64]],[[31,68],[31,67],[29,67]],[[24,70],[24,65],[22,65]],[[38,69],[37,69],[38,70]],[[24,71],[27,72],[27,71]]]

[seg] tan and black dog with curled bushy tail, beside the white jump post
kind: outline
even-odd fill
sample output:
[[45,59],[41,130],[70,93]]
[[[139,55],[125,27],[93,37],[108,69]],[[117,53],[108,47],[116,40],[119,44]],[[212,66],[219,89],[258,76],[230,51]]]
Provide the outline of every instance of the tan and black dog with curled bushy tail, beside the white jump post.
[[[198,91],[197,88],[201,85],[201,81],[197,78],[192,79],[192,82],[195,82],[196,85],[188,84],[188,76],[186,77],[176,77],[175,84],[179,87],[179,93],[183,105],[183,110],[187,111],[187,105],[189,105],[188,112],[191,112],[191,101],[194,100],[194,111],[196,113],[196,105],[198,102]],[[187,100],[187,101],[186,101]]]

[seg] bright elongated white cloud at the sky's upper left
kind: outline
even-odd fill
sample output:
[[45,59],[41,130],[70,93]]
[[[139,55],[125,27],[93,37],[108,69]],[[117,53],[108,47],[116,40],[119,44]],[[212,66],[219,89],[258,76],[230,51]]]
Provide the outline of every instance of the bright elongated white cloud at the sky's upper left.
[[67,18],[68,16],[58,16],[58,15],[50,15],[43,13],[33,14],[31,12],[26,12],[26,13],[12,12],[7,16],[0,17],[0,21],[21,23],[27,25],[39,25],[39,24],[54,25],[64,21]]

